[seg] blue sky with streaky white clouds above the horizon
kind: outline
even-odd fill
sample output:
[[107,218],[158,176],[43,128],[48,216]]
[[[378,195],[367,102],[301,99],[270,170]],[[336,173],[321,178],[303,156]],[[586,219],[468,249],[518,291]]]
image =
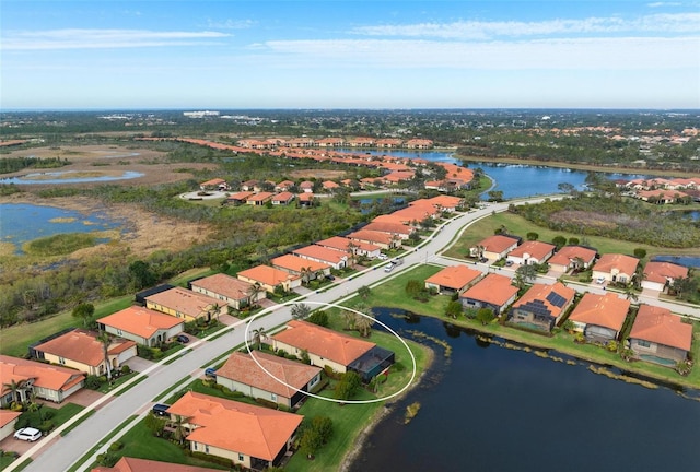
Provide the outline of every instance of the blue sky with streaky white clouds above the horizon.
[[700,0],[2,0],[0,52],[3,109],[700,108]]

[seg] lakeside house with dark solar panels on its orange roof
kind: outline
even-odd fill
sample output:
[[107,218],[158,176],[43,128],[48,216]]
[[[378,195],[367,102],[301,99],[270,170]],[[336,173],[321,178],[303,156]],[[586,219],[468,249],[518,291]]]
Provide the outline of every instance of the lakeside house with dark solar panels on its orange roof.
[[509,320],[522,327],[551,331],[573,303],[576,291],[557,282],[534,284],[511,308]]

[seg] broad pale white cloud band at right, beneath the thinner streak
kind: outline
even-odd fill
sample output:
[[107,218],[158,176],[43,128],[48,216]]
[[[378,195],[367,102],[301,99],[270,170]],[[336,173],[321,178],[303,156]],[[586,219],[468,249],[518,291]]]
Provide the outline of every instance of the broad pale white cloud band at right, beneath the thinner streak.
[[[698,69],[700,37],[560,38],[526,42],[293,40],[264,47],[283,67],[482,70]],[[259,45],[255,48],[260,54]],[[269,60],[269,59],[268,59]]]

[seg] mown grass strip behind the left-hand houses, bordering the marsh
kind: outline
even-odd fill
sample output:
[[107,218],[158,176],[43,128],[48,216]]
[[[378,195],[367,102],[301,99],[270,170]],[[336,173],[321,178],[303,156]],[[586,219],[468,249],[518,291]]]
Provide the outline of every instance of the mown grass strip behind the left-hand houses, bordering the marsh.
[[[117,310],[127,308],[133,304],[133,295],[125,295],[108,302],[95,305],[94,318],[102,318]],[[70,311],[63,311],[50,318],[34,323],[22,323],[0,331],[0,353],[14,357],[23,357],[27,353],[27,346],[43,338],[54,334],[66,328],[82,328],[82,319],[71,316]]]

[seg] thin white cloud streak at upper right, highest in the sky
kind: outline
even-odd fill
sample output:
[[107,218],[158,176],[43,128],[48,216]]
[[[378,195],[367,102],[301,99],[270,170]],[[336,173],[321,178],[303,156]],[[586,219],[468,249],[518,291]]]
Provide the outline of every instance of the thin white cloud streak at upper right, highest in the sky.
[[539,22],[418,23],[409,25],[360,26],[352,33],[366,36],[433,37],[444,39],[487,39],[498,37],[585,35],[612,33],[696,33],[700,31],[700,13],[653,14],[634,20],[588,17],[583,20],[548,20]]

